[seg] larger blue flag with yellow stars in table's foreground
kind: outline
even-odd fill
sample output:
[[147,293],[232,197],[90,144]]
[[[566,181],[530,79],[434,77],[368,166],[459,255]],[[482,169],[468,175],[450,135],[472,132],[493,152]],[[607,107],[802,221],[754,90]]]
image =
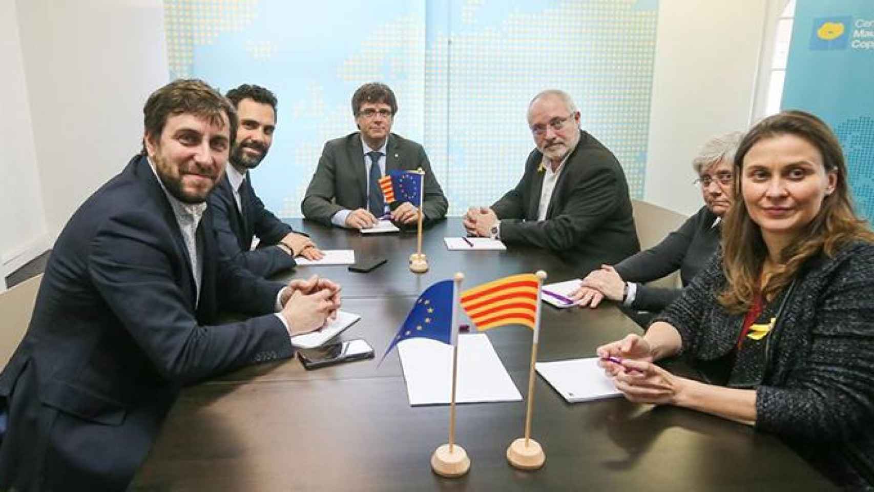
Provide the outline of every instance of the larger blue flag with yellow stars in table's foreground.
[[392,338],[392,343],[385,350],[385,356],[394,349],[400,341],[407,338],[431,338],[442,343],[452,340],[452,284],[453,281],[439,281],[419,296],[419,299],[406,315],[406,321],[400,325],[398,334]]

